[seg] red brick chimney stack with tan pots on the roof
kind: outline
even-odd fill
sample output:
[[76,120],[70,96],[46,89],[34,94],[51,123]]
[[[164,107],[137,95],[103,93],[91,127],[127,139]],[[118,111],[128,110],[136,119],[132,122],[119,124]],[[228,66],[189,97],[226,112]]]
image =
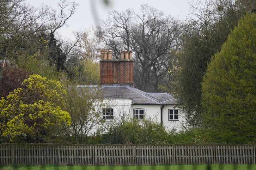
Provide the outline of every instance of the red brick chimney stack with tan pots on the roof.
[[113,60],[112,51],[101,51],[101,85],[131,85],[133,83],[132,51],[121,51],[121,59]]

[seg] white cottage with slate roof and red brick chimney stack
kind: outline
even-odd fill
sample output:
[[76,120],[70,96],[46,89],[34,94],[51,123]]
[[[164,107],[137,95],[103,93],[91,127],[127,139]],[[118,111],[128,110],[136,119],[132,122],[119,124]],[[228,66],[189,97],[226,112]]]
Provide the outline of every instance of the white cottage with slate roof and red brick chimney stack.
[[103,108],[102,118],[119,119],[124,113],[134,119],[153,118],[166,130],[182,128],[184,122],[176,100],[169,93],[148,93],[134,87],[132,51],[122,51],[121,59],[114,60],[112,51],[101,51],[101,95],[111,103]]

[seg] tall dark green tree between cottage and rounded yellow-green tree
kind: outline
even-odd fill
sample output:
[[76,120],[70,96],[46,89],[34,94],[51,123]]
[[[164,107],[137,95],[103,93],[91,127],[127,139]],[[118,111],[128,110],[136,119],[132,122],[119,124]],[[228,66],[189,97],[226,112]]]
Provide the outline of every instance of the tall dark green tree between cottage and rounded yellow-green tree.
[[236,0],[206,1],[191,4],[192,18],[182,25],[181,49],[177,53],[177,69],[168,85],[185,112],[187,123],[200,126],[203,111],[202,79],[211,56],[221,49],[238,20],[246,15],[245,5]]

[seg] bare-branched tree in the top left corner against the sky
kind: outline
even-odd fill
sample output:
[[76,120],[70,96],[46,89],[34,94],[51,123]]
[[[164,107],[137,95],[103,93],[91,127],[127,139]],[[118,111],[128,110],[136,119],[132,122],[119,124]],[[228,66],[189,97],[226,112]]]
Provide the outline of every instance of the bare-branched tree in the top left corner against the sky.
[[[3,65],[0,71],[0,85],[3,79],[3,72],[6,69],[6,61],[13,54],[22,49],[22,45],[26,44],[29,37],[39,32],[53,31],[66,24],[66,21],[73,15],[77,4],[72,3],[67,16],[64,15],[64,9],[69,6],[66,1],[58,4],[60,14],[52,13],[52,9],[46,5],[35,8],[27,5],[24,0],[3,0],[0,3],[0,33],[3,41],[1,44],[5,46],[3,56]],[[31,44],[30,44],[31,45]],[[31,45],[33,46],[33,45]],[[14,50],[11,50],[14,49]],[[27,54],[27,53],[24,53]],[[23,55],[20,57],[24,57]],[[7,65],[8,67],[8,65]]]

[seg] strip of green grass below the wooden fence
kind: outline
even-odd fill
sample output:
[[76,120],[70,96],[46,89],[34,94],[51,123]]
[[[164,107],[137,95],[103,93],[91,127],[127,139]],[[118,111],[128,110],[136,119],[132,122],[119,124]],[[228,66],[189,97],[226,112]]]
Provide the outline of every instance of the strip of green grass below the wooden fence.
[[211,165],[155,165],[155,166],[72,166],[72,165],[42,165],[42,166],[0,166],[0,170],[254,170],[256,165],[230,165],[230,164],[211,164]]

